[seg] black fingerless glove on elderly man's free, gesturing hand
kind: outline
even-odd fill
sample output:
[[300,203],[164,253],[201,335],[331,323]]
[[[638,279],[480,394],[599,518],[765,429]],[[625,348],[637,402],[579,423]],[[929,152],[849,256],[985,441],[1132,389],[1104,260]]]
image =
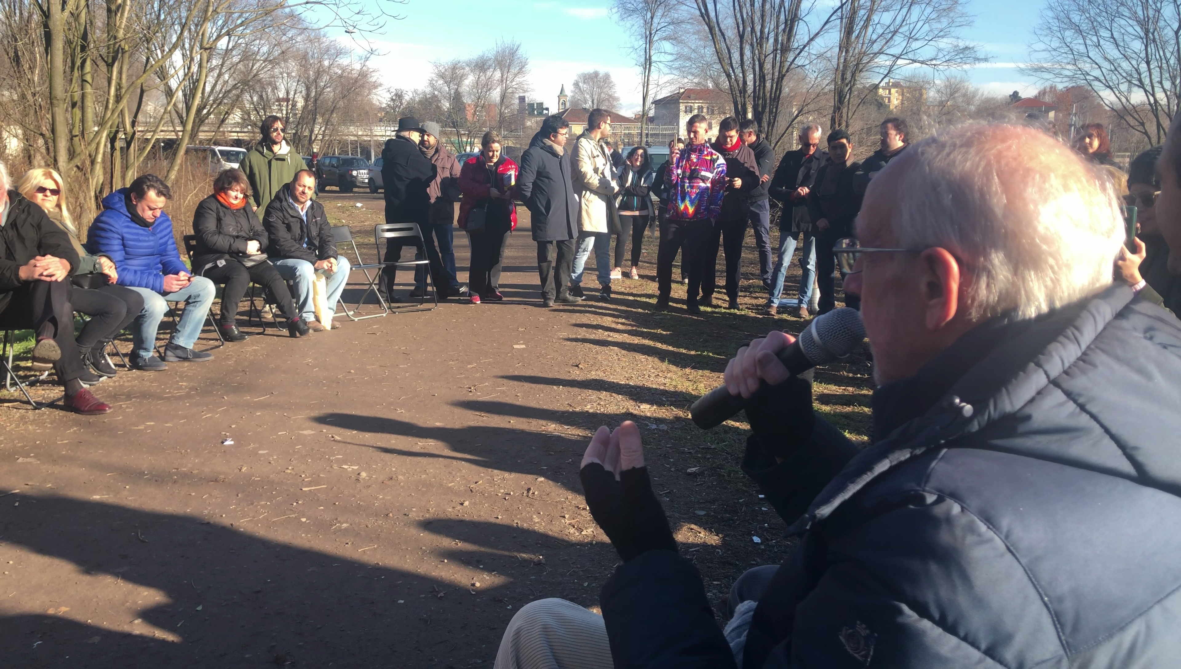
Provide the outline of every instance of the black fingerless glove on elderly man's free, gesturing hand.
[[595,523],[624,562],[647,551],[676,551],[677,540],[657,496],[647,467],[624,470],[620,480],[599,463],[579,472],[587,506]]

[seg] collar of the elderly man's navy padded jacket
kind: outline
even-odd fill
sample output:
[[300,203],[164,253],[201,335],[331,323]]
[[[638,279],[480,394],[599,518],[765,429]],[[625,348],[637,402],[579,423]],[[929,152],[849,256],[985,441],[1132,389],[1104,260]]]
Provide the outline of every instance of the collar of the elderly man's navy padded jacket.
[[[893,418],[879,422],[875,417],[875,439],[879,429],[888,434],[853,458],[788,527],[788,534],[800,534],[831,516],[889,468],[978,432],[1025,406],[1078,360],[1133,296],[1127,286],[1113,286],[1027,322],[988,321],[928,362],[913,380],[907,380],[913,382],[900,381],[894,388],[883,386],[886,392],[881,398],[874,394],[874,412],[881,402]],[[987,341],[998,335],[998,341]],[[963,372],[937,369],[950,361]],[[922,381],[931,383],[928,391],[915,387]],[[941,392],[940,386],[945,387]],[[899,408],[908,392],[915,401],[927,405],[912,412],[919,413],[918,417],[908,417]]]

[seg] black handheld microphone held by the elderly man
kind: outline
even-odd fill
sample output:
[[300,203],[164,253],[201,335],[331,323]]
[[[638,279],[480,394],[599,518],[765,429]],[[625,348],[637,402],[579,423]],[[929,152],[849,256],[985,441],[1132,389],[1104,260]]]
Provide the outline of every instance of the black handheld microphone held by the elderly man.
[[[775,356],[788,368],[788,374],[795,376],[817,365],[826,365],[849,355],[864,339],[866,327],[861,323],[861,311],[844,307],[813,320],[795,342]],[[763,392],[763,388],[766,388],[766,381],[763,381],[757,392]],[[690,407],[689,413],[698,427],[709,429],[722,425],[744,408],[746,399],[742,395],[731,395],[723,385],[702,395],[702,399]]]

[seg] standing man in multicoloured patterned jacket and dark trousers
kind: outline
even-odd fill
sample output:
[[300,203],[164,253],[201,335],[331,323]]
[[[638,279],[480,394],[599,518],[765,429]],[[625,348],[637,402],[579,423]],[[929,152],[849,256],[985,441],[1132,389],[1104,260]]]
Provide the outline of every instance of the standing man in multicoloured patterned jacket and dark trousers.
[[726,160],[710,147],[705,133],[710,122],[703,114],[693,114],[685,124],[689,135],[689,146],[684,150],[673,149],[668,156],[670,170],[665,177],[668,192],[668,215],[666,217],[668,234],[661,234],[660,250],[657,251],[657,267],[666,267],[666,271],[657,277],[659,295],[657,309],[668,308],[668,294],[672,290],[672,263],[660,263],[659,257],[668,252],[676,254],[680,241],[685,241],[681,262],[689,263],[689,294],[686,310],[699,314],[697,296],[702,290],[702,277],[705,271],[712,271],[703,263],[710,260],[705,252],[715,237],[713,222],[722,212],[722,197],[726,188]]

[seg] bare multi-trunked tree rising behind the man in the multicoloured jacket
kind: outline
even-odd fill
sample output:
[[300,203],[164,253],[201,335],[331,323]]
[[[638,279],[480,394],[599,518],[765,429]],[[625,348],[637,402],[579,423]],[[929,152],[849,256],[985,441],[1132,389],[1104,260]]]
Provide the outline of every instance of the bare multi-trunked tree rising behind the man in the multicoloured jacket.
[[784,86],[797,68],[810,64],[813,47],[837,9],[826,12],[814,0],[694,0],[693,6],[725,77],[735,116],[753,118],[778,143],[798,116],[797,111],[781,123]]

